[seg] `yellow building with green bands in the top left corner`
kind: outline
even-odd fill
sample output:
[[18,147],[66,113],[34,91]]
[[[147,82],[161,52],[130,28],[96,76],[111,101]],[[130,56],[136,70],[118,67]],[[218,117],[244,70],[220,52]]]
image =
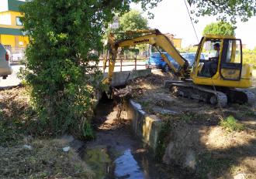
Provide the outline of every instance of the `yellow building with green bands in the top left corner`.
[[0,0],[0,43],[10,47],[26,47],[28,37],[22,34],[22,22],[19,5],[24,1]]

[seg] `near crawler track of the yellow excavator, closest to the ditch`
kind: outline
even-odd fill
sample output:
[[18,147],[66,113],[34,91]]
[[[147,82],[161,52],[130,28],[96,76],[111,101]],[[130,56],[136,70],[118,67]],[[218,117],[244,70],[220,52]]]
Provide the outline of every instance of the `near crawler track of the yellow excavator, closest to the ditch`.
[[192,83],[171,83],[170,90],[175,96],[211,103],[213,106],[227,106],[227,95],[225,93],[203,86],[196,86]]

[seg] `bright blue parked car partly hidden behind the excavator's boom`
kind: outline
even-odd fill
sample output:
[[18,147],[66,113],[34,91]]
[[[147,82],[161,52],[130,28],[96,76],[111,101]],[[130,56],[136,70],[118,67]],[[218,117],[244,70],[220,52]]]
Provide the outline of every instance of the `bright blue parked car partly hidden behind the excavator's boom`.
[[[175,66],[176,69],[179,68],[178,62],[175,59],[172,59],[167,52],[163,52],[167,56],[168,60]],[[162,69],[164,72],[169,72],[171,69],[168,67],[167,63],[164,62],[164,59],[161,58],[159,52],[153,52],[149,59],[146,62],[147,69]]]

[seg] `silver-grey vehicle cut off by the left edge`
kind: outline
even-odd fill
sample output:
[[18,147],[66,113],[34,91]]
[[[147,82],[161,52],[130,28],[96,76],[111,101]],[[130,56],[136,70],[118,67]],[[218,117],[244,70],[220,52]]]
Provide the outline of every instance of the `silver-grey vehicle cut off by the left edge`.
[[12,68],[9,66],[9,52],[0,43],[0,77],[6,79],[12,74]]

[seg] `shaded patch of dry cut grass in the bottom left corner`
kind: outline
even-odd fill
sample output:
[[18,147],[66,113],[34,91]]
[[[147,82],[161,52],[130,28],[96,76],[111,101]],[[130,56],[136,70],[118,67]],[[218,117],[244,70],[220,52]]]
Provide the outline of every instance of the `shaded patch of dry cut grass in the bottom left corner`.
[[0,147],[1,178],[94,178],[74,150],[64,152],[62,140],[24,140]]

